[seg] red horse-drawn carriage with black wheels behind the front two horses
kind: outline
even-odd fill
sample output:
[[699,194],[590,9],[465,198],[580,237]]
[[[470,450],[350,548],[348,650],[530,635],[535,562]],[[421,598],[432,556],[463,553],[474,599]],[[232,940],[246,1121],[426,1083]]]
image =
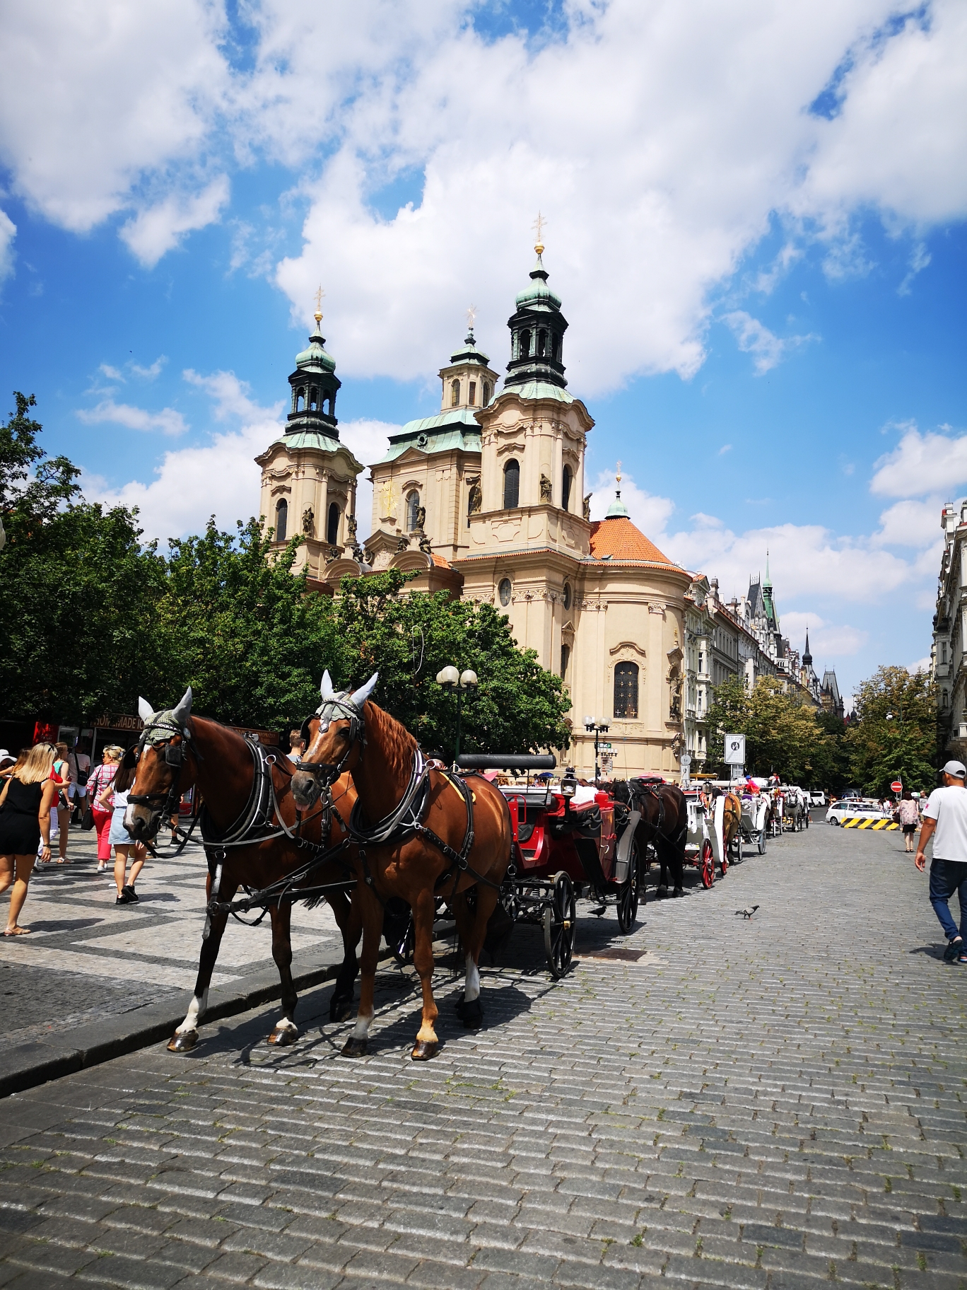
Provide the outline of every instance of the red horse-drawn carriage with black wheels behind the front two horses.
[[[464,771],[529,773],[525,784],[499,786],[513,832],[500,908],[512,924],[543,929],[552,977],[562,977],[570,968],[579,899],[600,902],[598,913],[614,904],[620,930],[632,930],[641,882],[638,813],[607,792],[579,784],[572,774],[566,774],[558,788],[530,783],[531,771],[554,768],[549,753],[467,753],[458,765]],[[495,913],[499,917],[499,911]]]

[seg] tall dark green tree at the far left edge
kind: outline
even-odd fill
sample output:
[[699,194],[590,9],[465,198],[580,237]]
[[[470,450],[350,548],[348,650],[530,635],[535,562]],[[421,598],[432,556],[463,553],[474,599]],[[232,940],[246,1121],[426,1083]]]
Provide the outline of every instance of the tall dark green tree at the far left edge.
[[0,426],[4,713],[80,720],[128,710],[129,689],[156,672],[148,624],[161,566],[133,512],[85,502],[77,468],[46,457],[28,415],[34,396],[14,397]]

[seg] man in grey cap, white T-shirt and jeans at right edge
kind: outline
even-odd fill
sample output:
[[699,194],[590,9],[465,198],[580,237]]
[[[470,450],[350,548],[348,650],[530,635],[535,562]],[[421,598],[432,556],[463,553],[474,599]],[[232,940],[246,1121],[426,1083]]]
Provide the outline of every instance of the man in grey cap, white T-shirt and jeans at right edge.
[[[962,761],[948,761],[941,778],[944,787],[933,789],[923,811],[914,863],[921,872],[927,867],[924,848],[932,837],[930,903],[948,940],[944,961],[967,964],[967,768]],[[954,891],[961,903],[959,931],[949,908]]]

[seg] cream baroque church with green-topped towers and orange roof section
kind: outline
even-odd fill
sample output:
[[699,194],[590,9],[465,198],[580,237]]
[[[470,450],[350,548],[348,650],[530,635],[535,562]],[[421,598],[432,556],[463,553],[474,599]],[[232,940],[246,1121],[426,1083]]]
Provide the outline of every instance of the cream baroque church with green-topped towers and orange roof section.
[[[389,437],[371,464],[371,531],[357,537],[364,466],[340,442],[339,379],[321,313],[298,355],[285,432],[257,458],[262,515],[277,544],[294,531],[309,586],[383,569],[415,571],[414,591],[449,591],[505,614],[571,695],[578,774],[594,774],[594,735],[607,724],[602,770],[677,779],[682,744],[685,596],[691,575],[630,521],[616,493],[589,517],[584,462],[591,413],[567,390],[567,321],[548,286],[540,243],[530,283],[508,320],[500,377],[469,333],[440,369],[441,406]],[[620,476],[619,476],[620,484]],[[455,660],[459,664],[459,659]]]

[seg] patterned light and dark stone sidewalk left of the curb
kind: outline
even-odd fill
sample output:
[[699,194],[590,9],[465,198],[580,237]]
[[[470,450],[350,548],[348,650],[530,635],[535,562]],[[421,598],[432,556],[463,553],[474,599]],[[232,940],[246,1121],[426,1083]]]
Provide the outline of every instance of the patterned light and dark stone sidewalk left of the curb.
[[[148,859],[138,878],[139,900],[126,906],[115,904],[113,867],[97,872],[93,832],[71,829],[72,863],[35,866],[21,918],[31,934],[0,939],[8,1044],[166,998],[183,996],[187,1006],[197,974],[208,871],[195,844],[178,858],[165,850]],[[295,965],[300,951],[330,944],[342,958],[329,908],[297,906]],[[213,984],[260,969],[275,970],[268,920],[257,930],[230,922]]]

